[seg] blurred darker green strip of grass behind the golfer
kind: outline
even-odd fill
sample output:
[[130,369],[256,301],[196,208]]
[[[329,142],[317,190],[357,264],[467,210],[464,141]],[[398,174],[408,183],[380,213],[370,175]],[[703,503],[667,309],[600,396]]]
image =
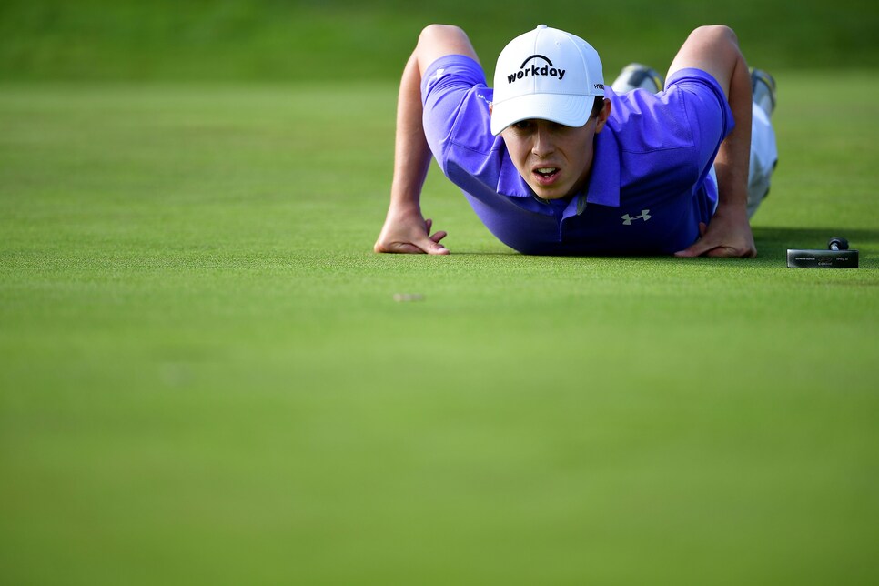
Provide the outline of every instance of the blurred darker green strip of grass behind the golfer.
[[462,26],[490,70],[512,35],[543,22],[584,36],[608,71],[664,67],[687,32],[713,23],[732,25],[765,68],[879,61],[872,0],[5,0],[0,78],[391,79],[433,22]]

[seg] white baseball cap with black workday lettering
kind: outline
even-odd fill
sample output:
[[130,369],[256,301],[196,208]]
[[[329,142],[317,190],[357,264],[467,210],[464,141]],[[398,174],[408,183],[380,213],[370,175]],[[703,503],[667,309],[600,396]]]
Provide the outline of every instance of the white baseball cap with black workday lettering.
[[540,25],[498,56],[491,134],[528,118],[583,126],[595,96],[604,96],[598,52],[579,36]]

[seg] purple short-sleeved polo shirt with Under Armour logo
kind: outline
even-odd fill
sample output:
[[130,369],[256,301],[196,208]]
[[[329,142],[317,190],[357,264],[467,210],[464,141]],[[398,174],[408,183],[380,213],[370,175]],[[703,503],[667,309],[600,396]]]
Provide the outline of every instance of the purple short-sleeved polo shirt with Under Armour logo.
[[672,76],[659,95],[635,90],[611,100],[595,136],[584,193],[535,197],[490,131],[493,91],[478,63],[444,56],[421,81],[424,131],[446,177],[501,242],[524,254],[672,254],[710,221],[717,187],[708,173],[732,130],[732,111],[699,69]]

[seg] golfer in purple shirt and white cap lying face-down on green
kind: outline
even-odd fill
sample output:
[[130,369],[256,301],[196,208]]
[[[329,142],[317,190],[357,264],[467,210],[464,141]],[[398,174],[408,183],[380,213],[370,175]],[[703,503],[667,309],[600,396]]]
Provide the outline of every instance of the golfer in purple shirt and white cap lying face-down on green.
[[[664,91],[658,78],[629,67],[606,87],[591,45],[540,25],[500,53],[492,91],[467,35],[429,25],[400,82],[376,252],[449,253],[419,207],[432,152],[524,254],[753,257],[749,217],[776,158],[772,77],[752,76],[717,25],[687,38]],[[645,80],[658,86],[632,89]]]

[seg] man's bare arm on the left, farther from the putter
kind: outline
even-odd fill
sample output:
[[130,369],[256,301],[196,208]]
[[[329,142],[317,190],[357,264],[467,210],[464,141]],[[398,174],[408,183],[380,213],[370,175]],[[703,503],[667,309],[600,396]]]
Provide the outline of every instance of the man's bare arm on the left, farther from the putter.
[[376,252],[449,254],[440,244],[446,233],[430,234],[432,221],[421,215],[420,198],[430,166],[430,149],[421,122],[421,77],[427,67],[446,55],[477,59],[470,39],[457,26],[429,25],[419,35],[399,84],[394,177],[385,224]]

